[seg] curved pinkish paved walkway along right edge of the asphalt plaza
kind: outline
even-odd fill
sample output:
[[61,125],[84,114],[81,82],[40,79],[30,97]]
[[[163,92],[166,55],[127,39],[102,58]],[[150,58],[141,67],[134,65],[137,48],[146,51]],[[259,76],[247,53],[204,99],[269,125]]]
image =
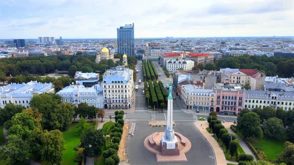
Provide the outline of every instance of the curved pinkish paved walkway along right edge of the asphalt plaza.
[[[223,150],[218,145],[216,140],[212,137],[212,134],[208,133],[205,129],[207,122],[206,121],[196,121],[196,122],[194,122],[194,124],[195,124],[196,128],[198,128],[198,130],[205,137],[205,139],[208,141],[208,143],[211,145],[213,152],[214,152],[216,165],[227,165],[226,157],[225,157]],[[202,126],[201,126],[201,124],[202,124]]]

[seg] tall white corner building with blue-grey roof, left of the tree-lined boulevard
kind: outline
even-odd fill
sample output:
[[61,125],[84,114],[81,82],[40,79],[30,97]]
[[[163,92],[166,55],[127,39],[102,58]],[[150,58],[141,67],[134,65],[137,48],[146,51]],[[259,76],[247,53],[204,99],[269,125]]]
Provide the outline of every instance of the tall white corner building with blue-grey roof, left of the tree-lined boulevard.
[[122,66],[103,74],[102,88],[104,108],[127,109],[133,103],[134,71]]

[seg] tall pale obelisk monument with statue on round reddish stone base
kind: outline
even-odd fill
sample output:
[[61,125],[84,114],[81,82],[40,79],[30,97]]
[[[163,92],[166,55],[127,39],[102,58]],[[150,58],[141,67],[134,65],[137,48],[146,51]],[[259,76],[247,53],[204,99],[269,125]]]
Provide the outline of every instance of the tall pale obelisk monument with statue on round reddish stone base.
[[191,142],[173,131],[171,83],[167,100],[167,123],[165,132],[154,132],[144,140],[145,148],[156,154],[157,162],[187,162],[185,153],[191,149]]

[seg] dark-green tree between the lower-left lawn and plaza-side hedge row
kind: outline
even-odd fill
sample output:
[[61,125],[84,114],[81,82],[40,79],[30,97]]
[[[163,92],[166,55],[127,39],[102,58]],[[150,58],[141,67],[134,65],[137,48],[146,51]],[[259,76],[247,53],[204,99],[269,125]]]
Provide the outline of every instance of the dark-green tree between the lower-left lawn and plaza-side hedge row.
[[90,158],[99,156],[105,144],[102,130],[94,130],[92,127],[81,135],[80,140],[85,156]]

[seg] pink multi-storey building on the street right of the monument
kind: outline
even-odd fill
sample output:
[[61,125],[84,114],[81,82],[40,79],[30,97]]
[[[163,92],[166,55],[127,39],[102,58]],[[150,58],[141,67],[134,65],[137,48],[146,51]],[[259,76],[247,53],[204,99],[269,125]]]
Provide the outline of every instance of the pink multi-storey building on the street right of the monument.
[[245,106],[245,92],[239,83],[215,83],[215,100],[214,111],[238,114]]

